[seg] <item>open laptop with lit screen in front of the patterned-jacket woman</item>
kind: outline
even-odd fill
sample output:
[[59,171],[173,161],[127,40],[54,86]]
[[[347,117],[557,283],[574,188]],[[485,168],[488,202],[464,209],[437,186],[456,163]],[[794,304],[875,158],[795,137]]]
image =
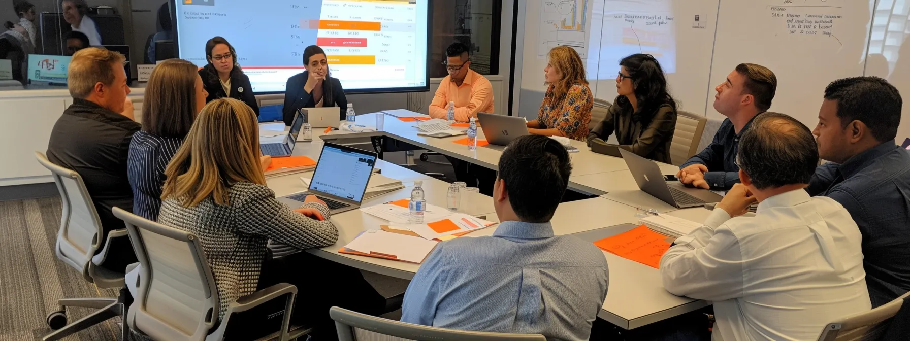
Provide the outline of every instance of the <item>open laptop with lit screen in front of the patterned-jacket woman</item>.
[[357,209],[367,191],[377,157],[373,152],[326,142],[322,145],[308,191],[282,196],[278,201],[296,207],[312,195],[326,202],[333,215]]

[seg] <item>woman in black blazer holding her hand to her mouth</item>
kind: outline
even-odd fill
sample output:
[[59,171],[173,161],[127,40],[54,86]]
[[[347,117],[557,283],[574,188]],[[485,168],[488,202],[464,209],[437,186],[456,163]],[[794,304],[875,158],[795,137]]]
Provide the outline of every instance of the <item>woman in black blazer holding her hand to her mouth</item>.
[[282,108],[285,125],[294,121],[297,109],[304,107],[339,106],[339,120],[343,120],[348,110],[348,98],[338,78],[329,75],[329,64],[326,52],[317,45],[309,45],[303,50],[302,73],[288,78],[285,87],[285,105]]

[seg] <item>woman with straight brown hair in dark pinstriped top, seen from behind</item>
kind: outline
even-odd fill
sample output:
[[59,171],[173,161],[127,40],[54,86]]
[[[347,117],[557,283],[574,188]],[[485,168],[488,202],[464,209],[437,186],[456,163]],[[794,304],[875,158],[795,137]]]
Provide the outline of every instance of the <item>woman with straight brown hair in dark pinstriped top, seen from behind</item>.
[[157,220],[165,167],[183,145],[207,96],[196,65],[186,60],[168,59],[152,70],[143,100],[142,130],[133,135],[126,162],[136,216]]

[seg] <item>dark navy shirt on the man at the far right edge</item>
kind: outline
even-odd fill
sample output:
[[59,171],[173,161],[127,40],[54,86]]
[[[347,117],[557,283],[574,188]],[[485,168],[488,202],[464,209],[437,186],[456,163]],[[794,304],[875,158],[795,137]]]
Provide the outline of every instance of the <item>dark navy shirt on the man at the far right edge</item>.
[[910,151],[888,141],[819,165],[806,191],[834,199],[859,226],[872,307],[910,290]]

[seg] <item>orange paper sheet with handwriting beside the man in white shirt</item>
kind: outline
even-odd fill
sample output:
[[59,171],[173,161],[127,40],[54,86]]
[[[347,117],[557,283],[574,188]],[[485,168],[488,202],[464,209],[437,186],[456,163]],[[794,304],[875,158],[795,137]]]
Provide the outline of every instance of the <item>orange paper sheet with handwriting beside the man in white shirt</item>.
[[667,236],[642,225],[628,232],[598,240],[594,245],[613,255],[656,269],[661,265],[663,254],[670,249],[670,242],[666,239]]

